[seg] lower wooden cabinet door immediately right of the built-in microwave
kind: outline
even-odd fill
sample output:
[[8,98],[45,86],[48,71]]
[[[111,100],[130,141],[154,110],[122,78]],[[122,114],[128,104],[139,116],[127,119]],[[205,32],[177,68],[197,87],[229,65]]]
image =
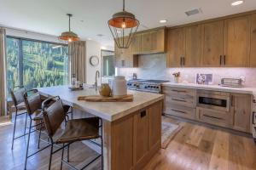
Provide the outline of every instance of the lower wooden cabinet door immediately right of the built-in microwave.
[[231,94],[231,109],[234,111],[234,128],[250,133],[251,95]]

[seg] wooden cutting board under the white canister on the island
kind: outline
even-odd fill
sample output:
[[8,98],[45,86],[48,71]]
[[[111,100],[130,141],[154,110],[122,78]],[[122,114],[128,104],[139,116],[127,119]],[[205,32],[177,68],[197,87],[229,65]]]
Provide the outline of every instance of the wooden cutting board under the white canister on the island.
[[79,96],[78,100],[90,102],[131,102],[133,101],[133,95],[127,94],[122,97],[103,97],[101,95]]

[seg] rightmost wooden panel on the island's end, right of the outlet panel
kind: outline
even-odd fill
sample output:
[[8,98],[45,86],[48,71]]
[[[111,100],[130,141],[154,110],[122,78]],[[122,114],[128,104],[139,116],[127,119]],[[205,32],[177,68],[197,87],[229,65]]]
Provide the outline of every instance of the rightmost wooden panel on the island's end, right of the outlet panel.
[[161,139],[161,115],[163,111],[162,101],[151,105],[148,109],[149,114],[149,132],[148,132],[148,149],[150,150],[155,144],[159,144]]

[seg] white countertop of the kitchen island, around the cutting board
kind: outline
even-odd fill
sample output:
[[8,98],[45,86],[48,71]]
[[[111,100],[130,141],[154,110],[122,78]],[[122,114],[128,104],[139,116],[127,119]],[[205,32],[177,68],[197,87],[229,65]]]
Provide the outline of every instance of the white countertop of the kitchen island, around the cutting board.
[[60,96],[63,103],[72,105],[81,111],[86,111],[92,115],[99,116],[104,120],[113,122],[154,104],[155,102],[164,99],[163,94],[152,94],[128,90],[128,94],[133,94],[132,102],[86,102],[79,101],[79,96],[96,95],[98,92],[94,88],[84,88],[84,90],[71,91],[67,86],[55,86],[49,88],[38,88],[40,94],[46,97]]

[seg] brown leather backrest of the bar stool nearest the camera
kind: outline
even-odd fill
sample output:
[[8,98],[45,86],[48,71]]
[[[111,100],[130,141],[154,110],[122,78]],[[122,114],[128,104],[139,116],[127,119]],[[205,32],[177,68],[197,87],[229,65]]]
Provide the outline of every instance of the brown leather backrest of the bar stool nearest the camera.
[[[44,105],[44,103],[43,103]],[[43,108],[44,124],[49,137],[55,135],[57,129],[61,127],[61,123],[65,120],[65,113],[61,99],[57,99],[52,105]]]

